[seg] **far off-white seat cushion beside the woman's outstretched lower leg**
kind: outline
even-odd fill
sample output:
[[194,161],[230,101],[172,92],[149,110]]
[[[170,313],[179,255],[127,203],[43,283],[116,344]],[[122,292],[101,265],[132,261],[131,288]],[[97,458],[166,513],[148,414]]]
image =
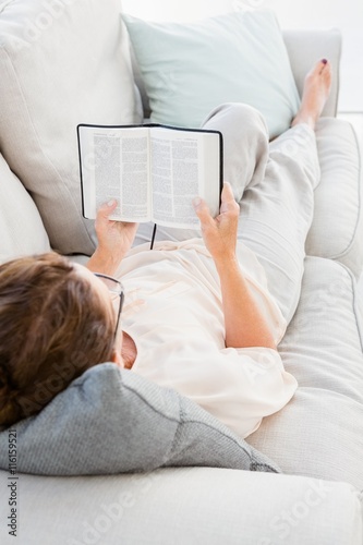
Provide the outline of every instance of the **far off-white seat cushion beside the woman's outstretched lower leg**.
[[352,125],[320,119],[316,128],[322,180],[315,190],[314,220],[306,253],[337,259],[356,277],[363,266],[362,172]]

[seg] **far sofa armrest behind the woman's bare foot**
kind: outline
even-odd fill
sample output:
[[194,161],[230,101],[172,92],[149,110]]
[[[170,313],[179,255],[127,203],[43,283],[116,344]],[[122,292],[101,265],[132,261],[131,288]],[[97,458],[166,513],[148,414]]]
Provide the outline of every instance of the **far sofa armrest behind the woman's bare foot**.
[[329,59],[334,76],[330,96],[325,105],[323,116],[335,117],[339,95],[340,31],[337,28],[330,31],[283,31],[282,35],[300,95],[305,74],[314,62],[318,59]]

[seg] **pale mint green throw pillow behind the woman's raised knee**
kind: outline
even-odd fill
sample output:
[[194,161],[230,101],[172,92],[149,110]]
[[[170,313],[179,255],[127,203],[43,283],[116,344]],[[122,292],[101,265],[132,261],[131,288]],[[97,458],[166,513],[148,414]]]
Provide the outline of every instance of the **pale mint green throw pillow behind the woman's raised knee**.
[[235,12],[190,24],[123,19],[152,122],[198,128],[216,106],[245,102],[264,114],[270,137],[290,126],[300,100],[273,12]]

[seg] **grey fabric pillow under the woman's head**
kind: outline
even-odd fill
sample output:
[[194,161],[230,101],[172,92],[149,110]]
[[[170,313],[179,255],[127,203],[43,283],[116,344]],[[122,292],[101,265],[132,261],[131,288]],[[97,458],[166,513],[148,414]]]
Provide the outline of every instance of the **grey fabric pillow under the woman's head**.
[[[23,473],[110,474],[165,465],[279,471],[190,399],[113,363],[92,367],[13,427]],[[1,469],[9,467],[8,444],[3,431]]]

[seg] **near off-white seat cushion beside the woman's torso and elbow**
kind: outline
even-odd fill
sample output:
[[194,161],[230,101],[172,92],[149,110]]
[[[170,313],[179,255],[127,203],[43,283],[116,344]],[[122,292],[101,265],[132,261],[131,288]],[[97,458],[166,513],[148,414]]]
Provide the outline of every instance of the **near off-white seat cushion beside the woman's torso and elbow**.
[[299,387],[247,439],[282,471],[363,488],[362,317],[350,270],[307,257],[301,300],[279,346]]

